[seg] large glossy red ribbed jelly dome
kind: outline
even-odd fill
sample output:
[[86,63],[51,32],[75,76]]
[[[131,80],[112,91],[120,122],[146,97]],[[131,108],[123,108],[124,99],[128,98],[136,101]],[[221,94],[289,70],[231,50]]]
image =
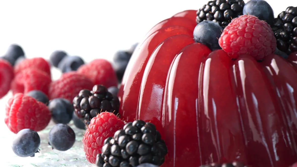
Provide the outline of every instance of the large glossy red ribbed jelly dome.
[[297,54],[231,59],[195,43],[195,10],[158,23],[133,53],[119,90],[127,122],[151,121],[168,147],[162,167],[297,159]]

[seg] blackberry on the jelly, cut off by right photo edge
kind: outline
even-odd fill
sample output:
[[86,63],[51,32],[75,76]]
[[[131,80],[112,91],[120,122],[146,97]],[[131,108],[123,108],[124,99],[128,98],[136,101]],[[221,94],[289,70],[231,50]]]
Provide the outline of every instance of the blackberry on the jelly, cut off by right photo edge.
[[287,53],[297,51],[297,7],[287,7],[273,22],[277,48]]

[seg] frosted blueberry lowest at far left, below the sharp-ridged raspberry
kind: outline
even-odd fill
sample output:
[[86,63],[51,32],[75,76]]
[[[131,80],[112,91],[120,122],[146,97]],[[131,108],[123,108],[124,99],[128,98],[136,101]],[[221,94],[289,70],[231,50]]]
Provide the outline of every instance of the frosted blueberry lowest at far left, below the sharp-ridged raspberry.
[[40,146],[40,137],[31,129],[20,130],[12,141],[12,151],[19,157],[34,157]]

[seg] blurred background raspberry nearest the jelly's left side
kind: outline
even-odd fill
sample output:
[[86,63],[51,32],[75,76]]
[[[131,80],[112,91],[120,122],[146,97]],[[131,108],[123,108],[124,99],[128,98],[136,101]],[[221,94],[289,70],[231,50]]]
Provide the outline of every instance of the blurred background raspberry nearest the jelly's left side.
[[106,88],[118,85],[116,72],[110,62],[105,59],[95,59],[84,64],[78,68],[77,72],[89,77],[95,85],[104,85]]

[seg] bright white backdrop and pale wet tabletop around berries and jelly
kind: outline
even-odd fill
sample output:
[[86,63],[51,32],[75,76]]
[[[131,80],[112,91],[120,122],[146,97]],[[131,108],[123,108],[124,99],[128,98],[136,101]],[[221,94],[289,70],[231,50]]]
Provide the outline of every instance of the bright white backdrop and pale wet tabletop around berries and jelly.
[[[267,0],[275,15],[293,0]],[[0,1],[0,56],[12,43],[21,45],[28,58],[49,58],[55,50],[82,56],[86,62],[96,58],[112,60],[113,54],[139,42],[149,29],[177,12],[198,9],[206,4],[200,0],[151,1],[75,1],[75,0],[10,0]],[[53,80],[60,72],[53,68]],[[51,150],[48,146],[50,125],[39,132],[40,153],[35,157],[17,157],[11,149],[14,133],[4,124],[5,103],[11,92],[0,100],[1,166],[94,166],[86,161],[83,130],[74,127],[75,145],[67,151]],[[71,125],[71,123],[70,123]]]

